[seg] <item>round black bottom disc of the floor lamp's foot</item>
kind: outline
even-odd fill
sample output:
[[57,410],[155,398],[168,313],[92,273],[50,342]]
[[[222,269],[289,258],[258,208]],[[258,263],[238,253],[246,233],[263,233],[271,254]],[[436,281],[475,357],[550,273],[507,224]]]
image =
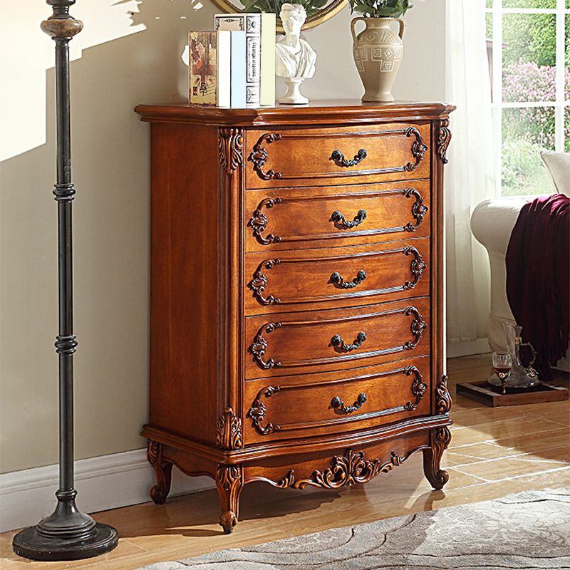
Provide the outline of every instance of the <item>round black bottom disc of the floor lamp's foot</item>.
[[81,560],[105,554],[117,546],[118,532],[107,524],[95,524],[88,537],[46,537],[38,526],[28,527],[14,537],[12,548],[18,556],[31,560]]

